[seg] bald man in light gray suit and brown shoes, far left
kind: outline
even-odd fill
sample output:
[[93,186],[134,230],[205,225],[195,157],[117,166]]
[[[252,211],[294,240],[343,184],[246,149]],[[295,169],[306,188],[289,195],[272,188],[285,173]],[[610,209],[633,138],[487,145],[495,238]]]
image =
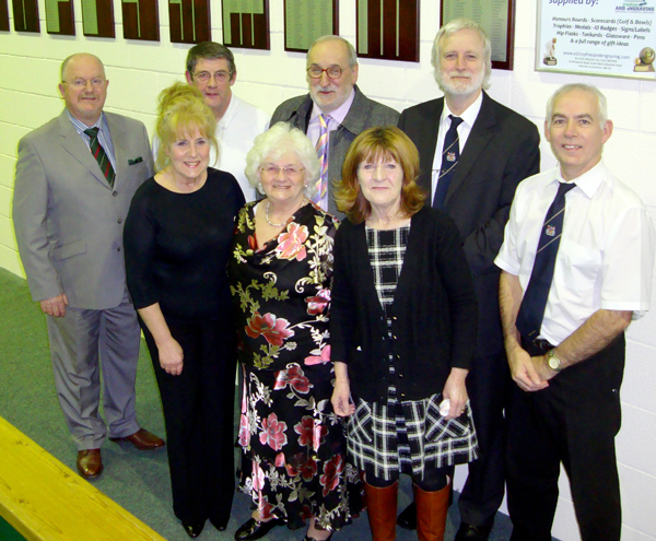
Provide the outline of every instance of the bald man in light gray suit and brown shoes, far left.
[[19,142],[13,198],[21,259],[47,314],[57,395],[86,479],[103,471],[101,369],[109,438],[140,450],[164,446],[137,424],[140,331],[122,252],[130,201],[153,162],[141,122],[103,113],[108,83],[93,55],[62,62],[66,109]]

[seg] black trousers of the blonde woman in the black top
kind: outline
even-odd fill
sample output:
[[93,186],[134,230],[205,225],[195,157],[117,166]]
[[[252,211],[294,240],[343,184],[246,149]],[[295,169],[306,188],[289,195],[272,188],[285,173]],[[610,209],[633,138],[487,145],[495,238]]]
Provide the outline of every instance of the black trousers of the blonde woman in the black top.
[[173,510],[184,522],[227,522],[235,491],[235,333],[230,320],[167,325],[184,352],[183,373],[166,374],[140,321],[166,423]]

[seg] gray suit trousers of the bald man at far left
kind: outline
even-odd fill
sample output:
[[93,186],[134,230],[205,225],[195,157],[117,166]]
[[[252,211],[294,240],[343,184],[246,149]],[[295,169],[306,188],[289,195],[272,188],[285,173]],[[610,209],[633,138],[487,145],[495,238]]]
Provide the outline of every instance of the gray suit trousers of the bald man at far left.
[[[57,397],[78,450],[99,448],[107,427],[112,437],[137,432],[134,379],[141,333],[127,292],[116,308],[67,306],[66,316],[46,320]],[[106,425],[98,413],[101,369]]]

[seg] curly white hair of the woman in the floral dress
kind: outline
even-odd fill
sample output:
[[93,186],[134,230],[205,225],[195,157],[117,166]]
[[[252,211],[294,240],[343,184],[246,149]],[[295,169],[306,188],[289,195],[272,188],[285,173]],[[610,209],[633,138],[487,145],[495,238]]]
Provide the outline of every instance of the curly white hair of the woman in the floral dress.
[[304,181],[307,184],[304,192],[312,198],[316,192],[316,180],[319,178],[319,158],[311,140],[298,128],[293,128],[288,122],[278,122],[268,131],[255,138],[253,149],[246,155],[246,177],[250,185],[261,192],[260,167],[265,160],[278,160],[286,152],[294,152],[305,169]]

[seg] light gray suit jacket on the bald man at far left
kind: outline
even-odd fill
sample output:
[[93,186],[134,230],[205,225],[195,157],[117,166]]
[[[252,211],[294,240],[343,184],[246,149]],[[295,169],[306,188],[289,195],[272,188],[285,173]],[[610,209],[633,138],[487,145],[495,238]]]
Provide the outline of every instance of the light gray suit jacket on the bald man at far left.
[[153,160],[143,124],[105,116],[116,153],[114,188],[66,109],[19,142],[13,221],[34,301],[66,293],[71,307],[108,309],[127,291],[124,222]]

